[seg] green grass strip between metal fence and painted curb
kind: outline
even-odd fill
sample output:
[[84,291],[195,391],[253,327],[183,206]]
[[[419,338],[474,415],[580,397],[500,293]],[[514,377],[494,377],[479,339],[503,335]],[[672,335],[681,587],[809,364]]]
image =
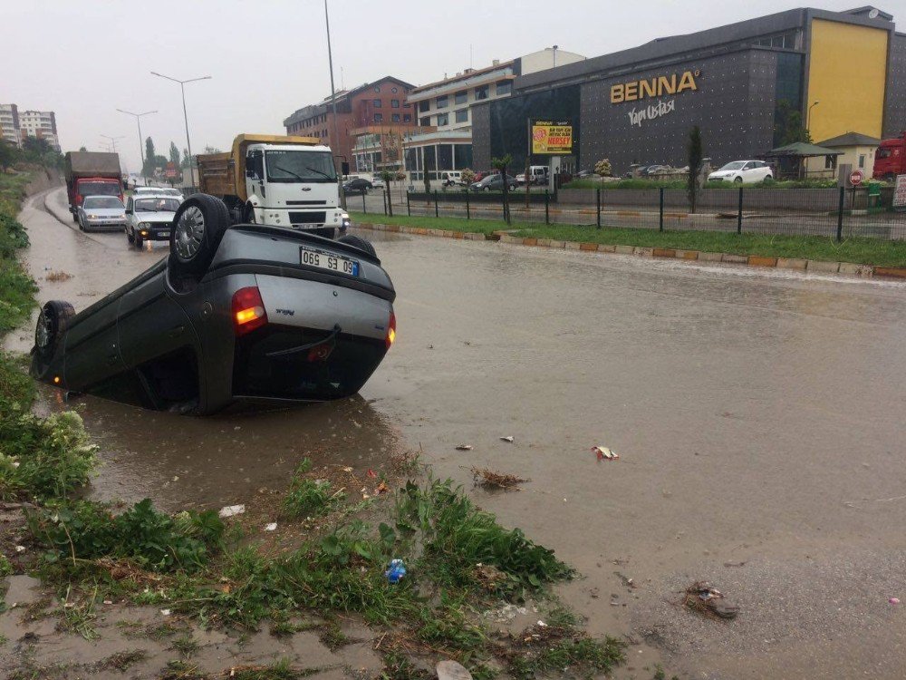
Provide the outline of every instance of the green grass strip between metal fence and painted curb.
[[878,267],[906,267],[906,242],[881,238],[834,238],[816,236],[785,236],[766,234],[736,234],[722,231],[656,231],[643,228],[602,227],[600,229],[572,225],[544,225],[513,222],[502,219],[422,218],[369,216],[352,214],[353,223],[361,221],[381,224],[400,224],[409,227],[448,229],[490,234],[501,229],[513,229],[515,236],[550,238],[561,241],[581,241],[639,248],[675,248],[732,255],[763,255],[791,257],[830,262],[852,262]]

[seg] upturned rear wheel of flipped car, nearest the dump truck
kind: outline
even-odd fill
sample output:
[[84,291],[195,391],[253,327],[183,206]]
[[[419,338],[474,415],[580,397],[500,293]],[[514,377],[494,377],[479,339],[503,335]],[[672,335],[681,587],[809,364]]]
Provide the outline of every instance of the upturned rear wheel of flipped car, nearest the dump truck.
[[228,227],[229,211],[222,200],[195,194],[183,201],[170,228],[169,267],[173,273],[204,273]]

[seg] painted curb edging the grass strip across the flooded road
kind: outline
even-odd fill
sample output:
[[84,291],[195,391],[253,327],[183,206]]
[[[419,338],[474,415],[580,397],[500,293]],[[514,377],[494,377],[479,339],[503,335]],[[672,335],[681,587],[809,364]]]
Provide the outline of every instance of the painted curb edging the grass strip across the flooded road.
[[763,255],[733,255],[732,253],[706,253],[699,250],[679,250],[674,248],[640,248],[638,246],[616,246],[604,243],[584,243],[580,241],[555,241],[550,238],[512,236],[505,231],[484,234],[473,231],[446,231],[401,225],[376,224],[371,222],[356,223],[356,228],[371,231],[392,231],[413,236],[436,236],[441,238],[462,238],[469,241],[500,241],[517,246],[533,248],[555,248],[579,250],[593,253],[614,253],[616,255],[635,255],[637,257],[659,257],[665,259],[695,260],[699,262],[724,262],[747,267],[774,267],[776,269],[794,269],[796,271],[821,274],[844,274],[855,277],[890,277],[906,280],[906,267],[875,267],[859,265],[853,262],[825,262],[824,260],[797,259],[790,257],[768,257]]

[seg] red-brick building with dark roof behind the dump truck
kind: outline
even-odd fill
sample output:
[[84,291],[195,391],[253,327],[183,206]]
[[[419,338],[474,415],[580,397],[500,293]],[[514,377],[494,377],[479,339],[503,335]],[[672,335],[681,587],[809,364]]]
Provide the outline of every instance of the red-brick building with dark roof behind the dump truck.
[[305,106],[285,119],[286,134],[317,137],[331,147],[335,158],[352,165],[356,143],[354,130],[370,125],[411,128],[416,124],[414,109],[406,101],[412,88],[411,83],[386,76],[352,90],[337,92],[335,129],[338,139],[333,139],[334,102],[330,97]]

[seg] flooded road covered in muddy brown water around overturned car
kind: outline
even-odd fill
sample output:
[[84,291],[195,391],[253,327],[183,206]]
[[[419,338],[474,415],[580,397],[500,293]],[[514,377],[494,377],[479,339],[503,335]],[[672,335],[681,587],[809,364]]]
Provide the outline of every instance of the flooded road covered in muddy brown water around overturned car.
[[[24,222],[42,300],[82,309],[166,254],[86,238],[41,200]],[[648,636],[673,672],[906,675],[906,615],[888,603],[906,596],[906,287],[365,236],[397,287],[399,339],[361,400],[193,419],[80,399],[109,462],[99,494],[226,504],[279,488],[307,452],[367,467],[420,445],[467,485],[473,465],[530,478],[475,495],[587,577],[564,597],[593,629]],[[735,621],[679,607],[698,579]]]

